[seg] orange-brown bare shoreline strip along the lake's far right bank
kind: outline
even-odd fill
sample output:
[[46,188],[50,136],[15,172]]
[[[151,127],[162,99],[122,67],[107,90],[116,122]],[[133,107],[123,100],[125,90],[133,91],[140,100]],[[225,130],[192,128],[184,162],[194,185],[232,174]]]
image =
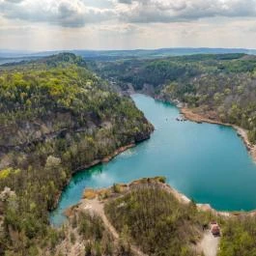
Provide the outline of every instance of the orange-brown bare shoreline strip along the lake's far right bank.
[[252,156],[253,160],[256,162],[256,145],[253,145],[250,143],[246,129],[240,128],[240,127],[232,125],[232,124],[223,123],[223,122],[215,120],[215,119],[210,119],[207,116],[193,112],[193,110],[191,110],[187,107],[179,107],[179,108],[180,108],[181,114],[184,115],[185,119],[196,122],[198,124],[209,123],[209,124],[222,125],[222,126],[226,126],[226,127],[235,128],[237,130],[238,135],[242,138],[242,141],[243,141],[246,149]]

